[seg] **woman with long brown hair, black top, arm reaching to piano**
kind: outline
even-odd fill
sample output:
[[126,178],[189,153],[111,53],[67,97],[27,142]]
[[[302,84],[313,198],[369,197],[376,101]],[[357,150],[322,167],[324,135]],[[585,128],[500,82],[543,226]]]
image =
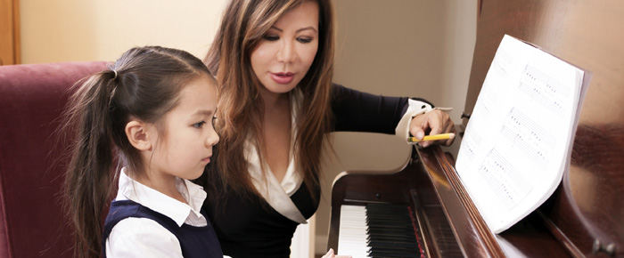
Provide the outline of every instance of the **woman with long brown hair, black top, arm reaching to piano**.
[[221,86],[221,141],[200,180],[224,254],[288,257],[295,228],[318,206],[328,133],[423,139],[454,130],[426,101],[333,85],[333,34],[330,0],[233,0],[226,7],[204,60]]

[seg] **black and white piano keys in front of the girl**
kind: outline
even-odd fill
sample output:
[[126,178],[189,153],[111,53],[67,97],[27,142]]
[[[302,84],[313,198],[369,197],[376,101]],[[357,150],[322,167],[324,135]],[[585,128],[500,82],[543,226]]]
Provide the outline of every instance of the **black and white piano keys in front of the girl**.
[[425,257],[409,207],[341,206],[338,254],[359,257]]

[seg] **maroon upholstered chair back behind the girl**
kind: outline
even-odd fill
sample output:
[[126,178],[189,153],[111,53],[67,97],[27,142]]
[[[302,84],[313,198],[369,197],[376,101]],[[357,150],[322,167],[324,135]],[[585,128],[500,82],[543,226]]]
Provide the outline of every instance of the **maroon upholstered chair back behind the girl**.
[[67,146],[53,133],[79,78],[106,63],[0,66],[0,258],[70,257],[61,205]]

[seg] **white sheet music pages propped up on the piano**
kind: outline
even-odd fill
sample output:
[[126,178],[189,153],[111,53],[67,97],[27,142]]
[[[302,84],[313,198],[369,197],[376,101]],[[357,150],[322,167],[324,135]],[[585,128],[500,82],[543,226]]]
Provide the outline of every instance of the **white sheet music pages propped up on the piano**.
[[504,36],[467,125],[456,170],[499,233],[562,181],[589,73]]

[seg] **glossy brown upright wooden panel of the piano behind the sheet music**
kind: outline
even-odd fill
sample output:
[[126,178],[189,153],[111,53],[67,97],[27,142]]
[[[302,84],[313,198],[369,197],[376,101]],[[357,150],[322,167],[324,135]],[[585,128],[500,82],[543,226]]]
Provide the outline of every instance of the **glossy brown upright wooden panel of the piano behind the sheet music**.
[[482,0],[479,8],[464,113],[505,34],[592,71],[571,168],[540,211],[577,254],[624,255],[624,1]]

